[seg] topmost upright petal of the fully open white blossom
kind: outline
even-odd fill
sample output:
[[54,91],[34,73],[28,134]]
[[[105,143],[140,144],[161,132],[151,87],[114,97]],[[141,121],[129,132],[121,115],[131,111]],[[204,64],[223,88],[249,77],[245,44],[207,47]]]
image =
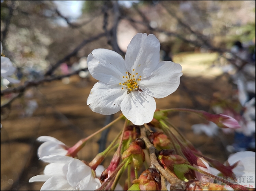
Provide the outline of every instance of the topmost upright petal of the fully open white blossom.
[[152,74],[160,59],[160,42],[155,35],[138,33],[127,47],[125,65],[130,73],[133,69],[142,78]]

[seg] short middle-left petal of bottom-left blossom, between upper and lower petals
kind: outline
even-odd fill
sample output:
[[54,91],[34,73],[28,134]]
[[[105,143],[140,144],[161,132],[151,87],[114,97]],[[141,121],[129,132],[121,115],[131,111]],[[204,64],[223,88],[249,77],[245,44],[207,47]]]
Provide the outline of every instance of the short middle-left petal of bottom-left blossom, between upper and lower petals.
[[45,166],[45,175],[66,175],[68,171],[68,165],[64,163],[50,163]]

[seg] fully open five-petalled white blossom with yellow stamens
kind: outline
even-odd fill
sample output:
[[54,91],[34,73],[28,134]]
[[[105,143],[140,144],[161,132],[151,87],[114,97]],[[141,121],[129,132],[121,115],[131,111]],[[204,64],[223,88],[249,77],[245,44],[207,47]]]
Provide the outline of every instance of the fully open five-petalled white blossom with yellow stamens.
[[138,33],[127,47],[125,59],[108,49],[88,55],[88,69],[97,82],[87,105],[97,113],[122,111],[135,125],[149,123],[156,110],[154,98],[164,98],[178,88],[182,67],[159,62],[160,42],[156,36]]

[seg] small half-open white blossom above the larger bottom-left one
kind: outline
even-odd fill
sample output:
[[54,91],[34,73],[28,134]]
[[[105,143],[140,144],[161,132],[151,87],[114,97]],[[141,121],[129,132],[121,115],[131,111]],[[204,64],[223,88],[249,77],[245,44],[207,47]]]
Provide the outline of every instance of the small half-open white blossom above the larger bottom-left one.
[[39,158],[49,155],[67,155],[68,147],[52,136],[39,136],[38,142],[44,142],[38,147],[37,155]]

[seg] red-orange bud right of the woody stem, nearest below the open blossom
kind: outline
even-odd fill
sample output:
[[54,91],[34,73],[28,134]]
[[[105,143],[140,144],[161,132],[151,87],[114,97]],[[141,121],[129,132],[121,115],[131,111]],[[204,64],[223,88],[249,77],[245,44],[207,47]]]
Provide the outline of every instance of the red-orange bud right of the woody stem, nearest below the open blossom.
[[157,149],[168,149],[170,148],[170,140],[163,132],[150,132],[148,139]]

